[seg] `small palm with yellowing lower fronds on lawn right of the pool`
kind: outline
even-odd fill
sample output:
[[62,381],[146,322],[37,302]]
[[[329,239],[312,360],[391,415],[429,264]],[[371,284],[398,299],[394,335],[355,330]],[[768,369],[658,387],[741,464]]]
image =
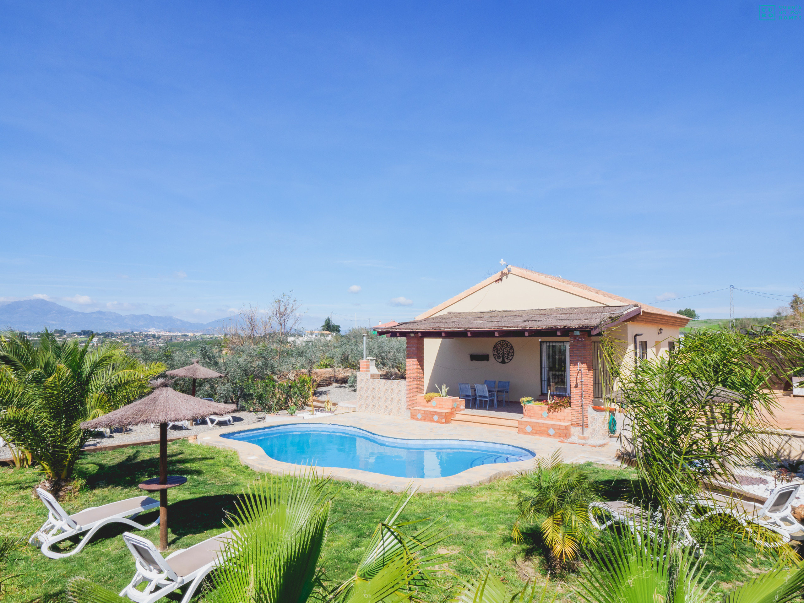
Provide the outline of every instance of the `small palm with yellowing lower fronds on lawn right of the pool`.
[[511,537],[522,542],[520,525],[537,524],[554,566],[575,560],[580,546],[592,538],[589,503],[597,500],[597,485],[589,469],[565,463],[558,450],[537,458],[535,469],[518,474],[506,490],[519,511]]

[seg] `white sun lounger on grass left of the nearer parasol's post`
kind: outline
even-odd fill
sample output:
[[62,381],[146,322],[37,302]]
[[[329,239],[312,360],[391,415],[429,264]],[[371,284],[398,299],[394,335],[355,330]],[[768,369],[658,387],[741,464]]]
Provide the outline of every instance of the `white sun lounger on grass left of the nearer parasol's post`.
[[[102,505],[101,507],[89,507],[88,509],[84,509],[84,511],[76,513],[76,515],[68,515],[67,511],[64,511],[50,492],[42,490],[41,488],[37,488],[36,491],[39,494],[39,498],[44,503],[44,506],[47,507],[47,521],[43,523],[39,530],[31,535],[28,542],[35,546],[41,544],[43,554],[51,559],[69,557],[80,552],[89,540],[92,539],[92,535],[108,523],[125,523],[131,527],[137,528],[137,530],[148,530],[159,524],[159,518],[157,518],[154,523],[151,523],[150,526],[143,526],[133,521],[133,518],[137,517],[140,513],[159,507],[158,500],[147,496],[127,498],[117,503]],[[73,548],[72,551],[66,553],[51,551],[51,546],[54,544],[64,539],[83,534],[85,531],[89,533],[81,539],[78,546]]]

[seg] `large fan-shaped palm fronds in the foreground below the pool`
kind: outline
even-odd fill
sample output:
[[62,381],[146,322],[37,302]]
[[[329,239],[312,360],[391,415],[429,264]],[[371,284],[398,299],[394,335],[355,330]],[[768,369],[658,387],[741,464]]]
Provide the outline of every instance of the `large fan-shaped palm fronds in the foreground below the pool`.
[[[427,589],[433,565],[442,556],[428,556],[425,550],[445,538],[445,528],[437,519],[412,535],[400,530],[419,523],[399,521],[414,494],[411,490],[376,527],[355,573],[327,587],[318,561],[335,494],[331,486],[329,478],[318,478],[312,471],[254,482],[230,518],[234,536],[227,547],[229,556],[213,573],[215,588],[207,590],[206,598],[215,603],[379,603],[409,601]],[[69,581],[68,593],[76,603],[128,601],[80,577]]]

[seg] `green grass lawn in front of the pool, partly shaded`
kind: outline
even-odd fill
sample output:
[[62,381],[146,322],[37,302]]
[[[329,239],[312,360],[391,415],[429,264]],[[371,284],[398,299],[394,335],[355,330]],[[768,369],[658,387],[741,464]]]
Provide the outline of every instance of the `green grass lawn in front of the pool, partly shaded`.
[[[236,495],[244,486],[259,477],[241,466],[236,454],[207,446],[178,441],[169,446],[170,473],[188,478],[185,486],[170,490],[170,551],[192,544],[224,531],[225,511],[233,510]],[[594,466],[605,486],[606,498],[620,498],[633,491],[631,470],[610,470]],[[85,454],[76,466],[80,483],[77,494],[64,499],[68,512],[80,511],[111,503],[121,498],[142,494],[137,483],[158,474],[158,446],[141,446]],[[23,537],[30,535],[45,518],[42,503],[32,498],[32,488],[39,482],[36,470],[0,469],[2,520],[0,535]],[[504,480],[486,486],[462,488],[449,494],[417,494],[405,511],[404,519],[445,515],[452,535],[441,544],[442,551],[452,552],[449,568],[461,576],[475,576],[475,564],[491,564],[494,572],[508,584],[519,586],[523,580],[535,577],[544,580],[544,552],[538,538],[531,535],[526,543],[511,542],[511,524],[515,519],[511,501],[503,494]],[[331,515],[330,535],[326,544],[323,566],[334,580],[351,574],[363,553],[363,546],[376,523],[384,519],[398,494],[379,492],[364,486],[343,484]],[[142,516],[150,523],[155,513]],[[76,556],[50,560],[39,549],[21,546],[10,563],[0,568],[0,575],[18,573],[6,590],[3,601],[67,601],[64,585],[71,576],[84,576],[109,589],[122,589],[133,575],[133,560],[119,535],[125,527],[112,525],[99,531],[92,543]],[[158,528],[139,532],[146,538],[158,540]],[[745,548],[754,568],[769,566],[768,560]],[[166,553],[168,554],[168,553]],[[751,568],[737,563],[728,547],[716,548],[708,554],[709,568],[715,571],[712,580],[733,583],[745,580]],[[754,570],[756,571],[756,570]],[[575,576],[561,576],[572,582]],[[438,580],[438,592],[431,601],[442,601],[455,580],[449,576]],[[556,585],[558,583],[556,582]],[[566,584],[560,586],[568,593]],[[718,586],[717,590],[720,590]],[[178,600],[178,594],[173,597]],[[574,601],[574,597],[560,601]]]

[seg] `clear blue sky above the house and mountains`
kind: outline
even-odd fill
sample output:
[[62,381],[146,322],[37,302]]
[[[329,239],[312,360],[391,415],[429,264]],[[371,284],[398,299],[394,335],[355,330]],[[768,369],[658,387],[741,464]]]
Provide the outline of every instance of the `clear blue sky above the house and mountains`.
[[0,11],[2,299],[366,325],[503,258],[746,316],[802,287],[804,21],[758,2]]

